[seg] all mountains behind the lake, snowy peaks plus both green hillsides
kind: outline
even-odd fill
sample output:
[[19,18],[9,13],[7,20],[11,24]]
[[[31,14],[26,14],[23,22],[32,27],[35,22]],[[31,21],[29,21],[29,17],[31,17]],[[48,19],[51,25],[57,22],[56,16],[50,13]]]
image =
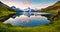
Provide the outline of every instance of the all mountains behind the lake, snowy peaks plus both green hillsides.
[[[30,7],[24,9],[26,12],[35,12],[34,9],[31,9]],[[17,12],[23,12],[23,10],[16,8],[15,6],[9,7],[6,4],[2,3],[0,1],[0,21],[4,21],[8,18],[8,16],[15,14]],[[56,2],[55,4],[46,7],[41,10],[37,10],[37,12],[51,12],[53,15],[48,16],[50,19],[60,19],[60,1]]]

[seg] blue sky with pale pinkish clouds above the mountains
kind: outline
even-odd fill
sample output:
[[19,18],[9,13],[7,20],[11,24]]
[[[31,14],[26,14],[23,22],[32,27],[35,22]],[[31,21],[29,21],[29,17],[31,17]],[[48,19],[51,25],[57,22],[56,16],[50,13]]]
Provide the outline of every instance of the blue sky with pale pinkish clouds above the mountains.
[[[27,7],[31,7],[31,8],[45,8],[48,7],[50,5],[53,5],[54,3],[56,3],[58,0],[0,0],[3,3],[5,3],[8,6],[16,6],[17,8],[20,9],[25,9]],[[27,2],[28,5],[24,2]]]

